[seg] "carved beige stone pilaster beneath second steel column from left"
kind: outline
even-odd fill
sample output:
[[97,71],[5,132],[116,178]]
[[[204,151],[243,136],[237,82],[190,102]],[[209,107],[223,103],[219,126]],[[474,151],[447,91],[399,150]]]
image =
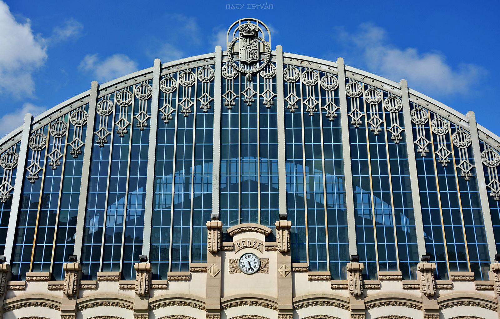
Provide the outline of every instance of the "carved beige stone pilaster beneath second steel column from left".
[[61,303],[61,319],[76,318],[76,301],[78,299],[78,289],[81,279],[80,263],[64,263],[62,269],[64,275],[64,288]]

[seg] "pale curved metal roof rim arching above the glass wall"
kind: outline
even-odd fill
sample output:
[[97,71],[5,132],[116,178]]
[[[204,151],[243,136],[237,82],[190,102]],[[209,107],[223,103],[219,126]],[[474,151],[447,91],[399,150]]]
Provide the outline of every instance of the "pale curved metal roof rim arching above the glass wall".
[[[212,57],[214,57],[214,54],[215,54],[214,52],[211,52],[211,53],[205,53],[205,54],[185,57],[185,58],[177,59],[177,60],[173,60],[173,61],[163,62],[163,63],[161,63],[161,69],[169,68],[169,67],[172,67],[175,65],[179,65],[179,64],[183,64],[183,63],[187,63],[187,62],[191,62],[191,61],[195,61],[195,60],[212,58]],[[271,54],[275,55],[275,50],[272,50]],[[223,51],[223,55],[227,55],[227,50]],[[337,63],[334,61],[329,61],[329,60],[315,58],[315,57],[306,56],[306,55],[287,53],[287,52],[283,52],[283,56],[287,57],[287,58],[294,58],[297,60],[300,59],[300,60],[304,60],[304,61],[306,60],[309,62],[318,63],[318,65],[317,65],[318,68],[321,68],[321,65],[337,68]],[[349,66],[349,65],[345,65],[345,71],[346,72],[355,72],[357,74],[369,77],[373,80],[376,80],[376,81],[379,81],[381,83],[393,86],[394,88],[397,88],[398,90],[400,90],[400,88],[401,88],[400,83],[394,82],[392,80],[389,80],[387,78],[378,76],[376,74],[373,74],[373,73],[370,73],[370,72],[367,72],[364,70],[357,69],[357,68]],[[99,84],[99,90],[106,89],[110,86],[124,82],[124,81],[128,80],[129,78],[137,77],[139,75],[143,75],[143,74],[147,74],[147,73],[152,74],[152,66],[145,68],[145,69],[142,69],[142,70],[132,72],[130,74],[123,75],[123,76],[116,78],[116,79],[101,83],[101,84]],[[75,96],[51,107],[50,109],[46,110],[45,112],[36,115],[33,119],[33,123],[39,122],[40,120],[46,118],[47,116],[50,116],[51,114],[55,113],[56,111],[60,110],[61,108],[68,106],[69,104],[72,104],[78,100],[80,100],[80,102],[81,102],[84,98],[88,97],[89,94],[90,94],[90,90],[86,90],[78,95],[75,95]],[[435,99],[433,99],[425,94],[422,94],[418,91],[415,91],[414,89],[408,88],[408,94],[414,95],[415,97],[417,97],[416,99],[421,98],[424,101],[429,102],[430,104],[433,104],[433,105],[429,105],[428,103],[425,104],[425,103],[417,102],[418,104],[425,104],[422,106],[425,106],[427,108],[430,107],[431,109],[433,108],[432,106],[435,106],[437,109],[433,109],[432,111],[436,111],[437,113],[441,113],[439,111],[440,111],[440,109],[442,109],[443,111],[455,116],[459,122],[459,123],[455,123],[455,124],[458,124],[460,126],[463,126],[464,128],[469,129],[468,118],[466,115],[456,111],[455,109],[453,109],[453,108],[451,108],[451,107],[449,107],[449,106],[447,106],[447,105],[445,105],[445,104],[443,104],[443,103],[441,103],[441,102],[439,102],[439,101],[437,101],[437,100],[435,100]],[[411,99],[412,98],[410,96],[410,100]],[[450,118],[450,120],[451,120],[451,118]],[[484,136],[480,136],[480,138],[486,138],[486,139],[492,138],[498,144],[497,149],[500,149],[500,136],[494,134],[493,132],[486,129],[484,126],[482,126],[480,124],[477,124],[477,128],[478,128],[479,133],[482,133],[482,135],[484,135]],[[22,132],[22,125],[17,127],[16,129],[12,130],[10,133],[6,134],[5,136],[3,136],[0,139],[0,145],[5,144],[9,139],[19,135],[21,132]]]

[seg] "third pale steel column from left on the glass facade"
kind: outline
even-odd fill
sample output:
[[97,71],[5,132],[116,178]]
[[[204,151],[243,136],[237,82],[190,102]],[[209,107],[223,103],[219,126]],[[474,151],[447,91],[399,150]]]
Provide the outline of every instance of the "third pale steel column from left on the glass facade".
[[142,234],[142,255],[149,256],[151,246],[151,218],[154,192],[154,162],[156,161],[156,131],[158,127],[159,78],[161,61],[154,59],[153,91],[151,95],[151,117],[149,120],[149,147],[147,150],[146,200],[144,203],[144,230]]

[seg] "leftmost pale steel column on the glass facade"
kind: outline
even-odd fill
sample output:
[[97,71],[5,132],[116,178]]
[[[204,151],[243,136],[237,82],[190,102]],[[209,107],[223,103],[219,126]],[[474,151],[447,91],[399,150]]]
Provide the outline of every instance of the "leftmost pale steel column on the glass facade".
[[14,235],[17,226],[17,215],[19,214],[21,191],[24,182],[24,171],[26,170],[26,157],[28,153],[28,140],[31,133],[31,122],[33,116],[30,113],[24,115],[24,124],[22,125],[21,146],[19,149],[19,158],[17,160],[17,173],[15,175],[14,192],[12,194],[12,204],[10,206],[10,215],[8,219],[7,238],[5,239],[5,250],[3,254],[10,264],[12,259],[12,249],[14,247]]

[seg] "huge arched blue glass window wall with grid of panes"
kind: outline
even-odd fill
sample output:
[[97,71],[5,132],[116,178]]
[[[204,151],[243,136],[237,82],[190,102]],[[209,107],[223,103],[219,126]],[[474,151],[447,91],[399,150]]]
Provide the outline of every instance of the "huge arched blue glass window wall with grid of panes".
[[13,241],[12,280],[28,272],[62,280],[71,254],[85,280],[98,272],[132,280],[142,254],[153,280],[166,280],[206,263],[211,214],[224,232],[243,223],[269,227],[266,242],[275,242],[284,213],[292,262],[333,280],[346,279],[353,254],[365,279],[398,271],[415,280],[419,255],[429,254],[437,279],[471,271],[486,280],[490,254],[500,250],[499,143],[470,132],[462,115],[402,96],[389,80],[348,67],[339,74],[336,63],[287,53],[269,59],[251,76],[226,52],[220,64],[207,54],[139,71],[102,84],[95,101],[78,97],[57,116],[37,118],[25,163],[16,159],[20,135],[2,148],[0,255]]

